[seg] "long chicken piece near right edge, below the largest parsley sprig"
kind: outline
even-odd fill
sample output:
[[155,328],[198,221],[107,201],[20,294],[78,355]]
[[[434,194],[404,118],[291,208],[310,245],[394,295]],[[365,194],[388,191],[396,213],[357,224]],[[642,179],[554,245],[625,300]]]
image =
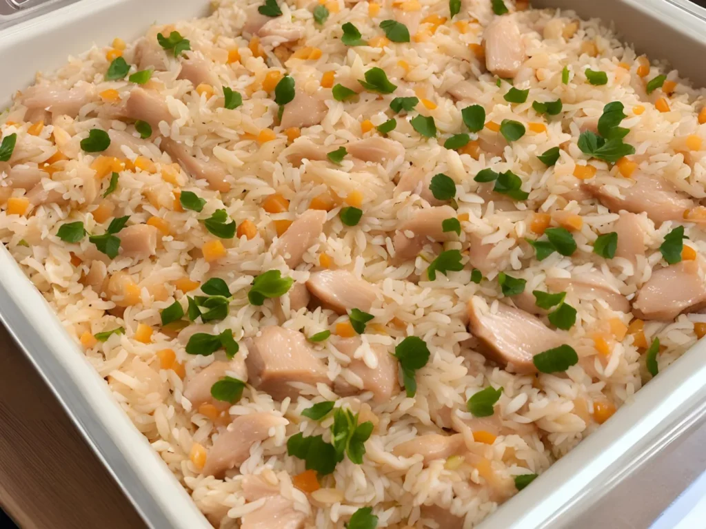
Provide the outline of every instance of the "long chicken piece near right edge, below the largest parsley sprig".
[[583,183],[582,188],[597,198],[612,212],[625,209],[630,213],[647,213],[657,224],[664,221],[683,221],[684,212],[694,207],[694,201],[678,193],[670,183],[657,175],[637,174],[629,188],[620,188],[621,197],[609,194],[604,186],[594,181]]

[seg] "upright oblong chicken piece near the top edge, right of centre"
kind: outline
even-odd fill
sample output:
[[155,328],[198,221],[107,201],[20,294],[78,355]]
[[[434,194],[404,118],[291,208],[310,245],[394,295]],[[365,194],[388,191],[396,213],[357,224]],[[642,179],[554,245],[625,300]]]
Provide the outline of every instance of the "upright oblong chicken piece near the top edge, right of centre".
[[527,59],[520,29],[510,16],[496,16],[483,32],[483,44],[486,68],[498,77],[514,78]]

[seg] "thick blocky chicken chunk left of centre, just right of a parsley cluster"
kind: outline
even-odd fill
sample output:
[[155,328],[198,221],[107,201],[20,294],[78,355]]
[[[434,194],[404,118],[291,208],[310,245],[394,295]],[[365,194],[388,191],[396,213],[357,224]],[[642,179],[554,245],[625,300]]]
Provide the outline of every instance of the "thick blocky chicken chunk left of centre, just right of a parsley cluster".
[[304,334],[283,327],[265,327],[253,338],[246,358],[251,384],[276,401],[297,399],[299,389],[288,382],[327,384],[326,366],[316,358]]

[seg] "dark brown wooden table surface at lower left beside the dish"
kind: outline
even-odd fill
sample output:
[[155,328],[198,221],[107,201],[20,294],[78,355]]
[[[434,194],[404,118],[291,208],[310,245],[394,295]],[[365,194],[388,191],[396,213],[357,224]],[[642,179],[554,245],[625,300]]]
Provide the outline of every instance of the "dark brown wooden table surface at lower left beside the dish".
[[23,529],[145,527],[1,324],[0,506]]

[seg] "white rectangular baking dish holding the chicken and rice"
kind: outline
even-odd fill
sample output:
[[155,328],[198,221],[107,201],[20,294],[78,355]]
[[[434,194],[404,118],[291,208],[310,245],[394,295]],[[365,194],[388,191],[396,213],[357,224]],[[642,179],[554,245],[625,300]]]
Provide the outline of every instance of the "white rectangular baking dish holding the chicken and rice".
[[[613,20],[626,41],[669,59],[706,85],[706,11],[686,0],[533,0]],[[151,23],[204,14],[208,0],[81,0],[0,32],[0,99],[91,44],[132,39]],[[700,15],[700,16],[699,16]],[[188,494],[109,394],[41,294],[0,250],[0,319],[52,387],[127,497],[153,528],[208,528]],[[614,418],[483,524],[491,528],[588,527],[578,520],[626,476],[706,414],[706,344],[700,343],[638,392]],[[106,521],[110,525],[109,521]]]

